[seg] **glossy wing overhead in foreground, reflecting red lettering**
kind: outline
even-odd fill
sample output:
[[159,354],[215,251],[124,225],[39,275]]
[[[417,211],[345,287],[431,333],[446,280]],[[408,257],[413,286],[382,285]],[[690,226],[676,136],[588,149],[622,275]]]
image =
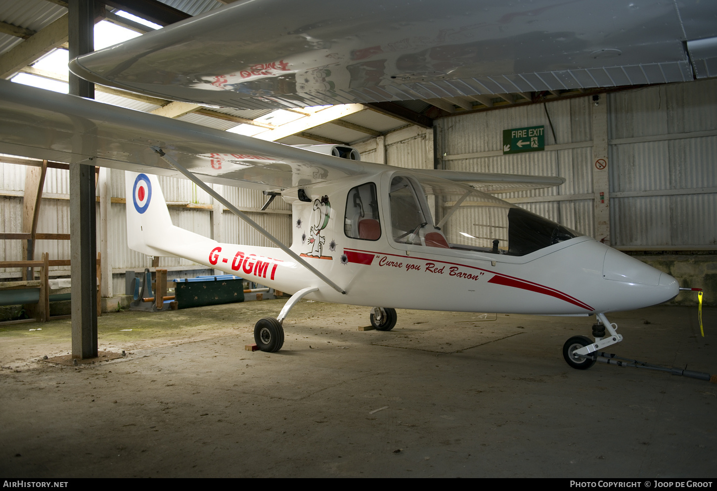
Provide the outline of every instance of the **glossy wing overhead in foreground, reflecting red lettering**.
[[233,108],[683,82],[717,75],[717,2],[241,1],[70,68]]

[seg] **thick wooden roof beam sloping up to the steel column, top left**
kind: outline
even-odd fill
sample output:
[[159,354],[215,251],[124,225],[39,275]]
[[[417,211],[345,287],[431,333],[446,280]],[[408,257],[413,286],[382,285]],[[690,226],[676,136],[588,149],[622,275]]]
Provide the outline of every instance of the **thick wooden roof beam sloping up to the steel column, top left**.
[[0,56],[0,78],[9,78],[67,42],[67,14]]

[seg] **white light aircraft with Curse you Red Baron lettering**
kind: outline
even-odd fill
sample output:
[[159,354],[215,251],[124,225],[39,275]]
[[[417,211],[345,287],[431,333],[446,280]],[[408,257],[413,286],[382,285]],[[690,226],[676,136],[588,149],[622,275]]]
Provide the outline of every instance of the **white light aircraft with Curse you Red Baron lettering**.
[[[581,355],[622,340],[606,313],[679,291],[673,277],[484,192],[555,186],[561,178],[366,163],[351,148],[308,151],[12,82],[0,83],[0,104],[3,153],[141,171],[126,173],[131,248],[293,292],[277,318],[255,326],[264,351],[282,347],[282,322],[305,297],[371,306],[379,330],[394,327],[396,308],[597,315],[607,334],[564,346],[571,366],[589,368],[594,360]],[[174,227],[148,173],[191,178],[277,247],[222,244]],[[291,247],[203,180],[291,203]]]

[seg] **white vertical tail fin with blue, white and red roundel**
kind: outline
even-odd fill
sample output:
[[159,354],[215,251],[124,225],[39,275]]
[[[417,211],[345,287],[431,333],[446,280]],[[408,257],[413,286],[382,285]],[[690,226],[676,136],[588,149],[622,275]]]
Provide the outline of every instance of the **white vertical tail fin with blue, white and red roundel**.
[[173,229],[157,176],[125,171],[127,245],[148,256],[168,256],[161,244]]

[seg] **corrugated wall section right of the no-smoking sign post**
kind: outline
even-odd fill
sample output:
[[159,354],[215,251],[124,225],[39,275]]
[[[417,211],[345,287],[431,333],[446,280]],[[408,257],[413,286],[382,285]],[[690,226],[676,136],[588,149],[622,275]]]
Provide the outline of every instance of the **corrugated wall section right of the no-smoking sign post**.
[[608,101],[614,243],[717,249],[717,80]]

